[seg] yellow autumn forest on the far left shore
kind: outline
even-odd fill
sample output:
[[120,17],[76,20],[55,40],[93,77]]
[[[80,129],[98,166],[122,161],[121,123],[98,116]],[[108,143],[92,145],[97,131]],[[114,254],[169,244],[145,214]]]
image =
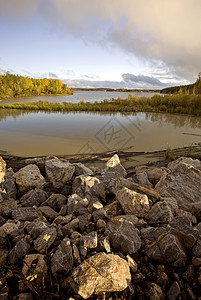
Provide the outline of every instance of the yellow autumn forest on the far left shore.
[[0,98],[72,94],[73,91],[58,79],[34,79],[10,73],[0,75]]

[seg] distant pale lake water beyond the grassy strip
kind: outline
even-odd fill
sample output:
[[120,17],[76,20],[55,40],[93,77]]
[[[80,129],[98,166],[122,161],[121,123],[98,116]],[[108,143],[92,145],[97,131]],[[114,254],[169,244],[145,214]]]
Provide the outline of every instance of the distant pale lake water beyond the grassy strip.
[[[104,99],[117,99],[119,96],[122,99],[128,98],[129,94],[138,95],[139,97],[151,97],[154,93],[130,93],[130,92],[74,92],[73,95],[69,96],[40,96],[40,97],[22,97],[22,98],[10,98],[5,100],[0,100],[0,104],[9,104],[9,103],[26,103],[26,102],[37,102],[37,101],[44,101],[47,100],[49,102],[71,102],[71,103],[78,103],[80,100],[84,100],[85,102],[94,102],[98,101],[101,102]],[[155,93],[157,94],[157,93]]]

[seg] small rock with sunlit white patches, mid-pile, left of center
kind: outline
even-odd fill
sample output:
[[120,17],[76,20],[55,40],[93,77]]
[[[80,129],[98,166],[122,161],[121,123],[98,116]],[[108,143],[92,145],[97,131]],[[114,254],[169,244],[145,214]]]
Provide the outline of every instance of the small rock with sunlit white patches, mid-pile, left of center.
[[86,207],[88,206],[89,201],[87,198],[81,198],[77,194],[73,194],[68,198],[67,208],[68,214],[78,216],[83,212],[87,212]]

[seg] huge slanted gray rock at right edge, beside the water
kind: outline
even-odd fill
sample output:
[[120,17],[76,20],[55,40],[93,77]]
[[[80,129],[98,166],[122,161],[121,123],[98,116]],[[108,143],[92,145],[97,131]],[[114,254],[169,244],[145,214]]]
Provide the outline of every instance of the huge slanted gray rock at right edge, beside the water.
[[170,171],[161,177],[155,190],[164,197],[177,199],[179,208],[200,202],[200,162],[181,158],[170,165]]

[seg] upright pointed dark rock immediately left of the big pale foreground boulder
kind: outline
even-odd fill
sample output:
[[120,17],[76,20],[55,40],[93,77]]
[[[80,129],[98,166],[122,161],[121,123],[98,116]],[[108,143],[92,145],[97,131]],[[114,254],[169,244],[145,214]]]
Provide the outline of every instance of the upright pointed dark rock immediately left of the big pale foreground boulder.
[[51,259],[51,270],[54,277],[67,276],[73,267],[73,254],[70,240],[64,238]]

